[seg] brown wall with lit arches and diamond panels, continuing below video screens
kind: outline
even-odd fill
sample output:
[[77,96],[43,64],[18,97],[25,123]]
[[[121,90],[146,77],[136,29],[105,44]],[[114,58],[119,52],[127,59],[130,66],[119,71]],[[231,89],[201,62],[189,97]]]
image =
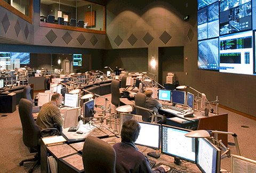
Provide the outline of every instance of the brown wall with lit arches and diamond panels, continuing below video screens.
[[[158,66],[155,69],[150,67],[153,56],[158,64],[158,47],[183,46],[183,71],[170,71],[176,74],[180,85],[188,85],[205,93],[210,101],[218,95],[221,105],[256,117],[256,93],[253,90],[256,77],[198,70],[197,1],[180,0],[177,3],[180,5],[174,1],[148,0],[144,4],[134,0],[108,1],[106,48],[147,47],[148,70],[158,75]],[[190,15],[187,22],[183,21],[186,15]],[[167,43],[160,39],[164,31],[171,36]],[[147,32],[153,38],[149,44],[143,40]],[[131,35],[137,39],[133,45],[128,41]],[[188,91],[194,93],[191,89]]]

